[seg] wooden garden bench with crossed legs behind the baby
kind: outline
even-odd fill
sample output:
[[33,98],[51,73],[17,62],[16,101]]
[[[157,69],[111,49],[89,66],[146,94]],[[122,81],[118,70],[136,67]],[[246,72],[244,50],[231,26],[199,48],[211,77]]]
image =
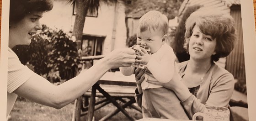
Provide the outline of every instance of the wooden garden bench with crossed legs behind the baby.
[[[104,55],[99,56],[88,56],[82,57],[81,60],[84,61],[91,61],[92,65],[94,60],[98,60],[104,58]],[[122,84],[126,86],[122,86]],[[105,121],[112,116],[116,115],[119,111],[122,111],[125,116],[128,117],[129,120],[134,121],[133,117],[129,116],[128,112],[124,110],[126,107],[133,108],[142,112],[139,106],[134,105],[136,102],[134,99],[134,90],[136,88],[136,83],[133,84],[122,83],[120,84],[113,84],[111,82],[101,82],[98,81],[96,84],[93,85],[91,89],[89,89],[84,95],[83,98],[85,99],[84,103],[81,103],[81,111],[76,111],[75,113],[80,113],[79,116],[87,115],[87,120],[91,121],[93,118],[93,112],[95,110],[104,107],[105,105],[112,103],[114,106],[117,107],[117,110],[113,110],[107,116],[101,118],[100,121]],[[96,102],[95,97],[102,97],[103,100]],[[90,103],[89,103],[90,98]],[[117,100],[123,103],[123,105],[118,104]],[[90,106],[89,106],[90,105]],[[93,107],[93,109],[90,109]],[[77,107],[76,107],[77,108]]]

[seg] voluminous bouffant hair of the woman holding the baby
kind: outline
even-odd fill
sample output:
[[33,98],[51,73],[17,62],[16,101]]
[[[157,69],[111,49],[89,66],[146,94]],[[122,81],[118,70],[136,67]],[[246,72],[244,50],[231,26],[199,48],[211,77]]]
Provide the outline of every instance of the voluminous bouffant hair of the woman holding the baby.
[[203,34],[209,35],[213,39],[216,38],[216,54],[212,55],[212,62],[227,57],[234,49],[236,42],[235,21],[229,14],[204,7],[193,12],[186,21],[184,48],[187,51],[189,39],[196,25]]

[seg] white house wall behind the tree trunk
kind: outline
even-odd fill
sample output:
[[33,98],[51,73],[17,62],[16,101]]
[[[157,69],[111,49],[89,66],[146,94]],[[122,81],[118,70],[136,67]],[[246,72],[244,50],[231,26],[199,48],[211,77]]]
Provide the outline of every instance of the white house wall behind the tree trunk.
[[[100,3],[98,16],[85,18],[84,34],[106,36],[103,54],[110,53],[115,48],[126,47],[127,37],[124,11],[123,1],[118,1],[116,8],[115,4],[106,5]],[[75,16],[72,16],[72,12],[73,5],[67,4],[65,0],[55,0],[53,10],[43,15],[41,23],[52,28],[63,29],[64,32],[72,31],[75,23]],[[114,21],[114,18],[117,18],[117,20]],[[114,27],[116,29],[113,32]]]

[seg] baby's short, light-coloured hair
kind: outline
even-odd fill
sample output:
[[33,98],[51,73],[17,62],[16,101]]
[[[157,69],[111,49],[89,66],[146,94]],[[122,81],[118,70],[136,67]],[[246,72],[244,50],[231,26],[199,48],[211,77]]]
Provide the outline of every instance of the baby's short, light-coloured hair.
[[162,30],[163,35],[168,32],[168,18],[159,11],[149,11],[139,19],[137,32],[146,30]]

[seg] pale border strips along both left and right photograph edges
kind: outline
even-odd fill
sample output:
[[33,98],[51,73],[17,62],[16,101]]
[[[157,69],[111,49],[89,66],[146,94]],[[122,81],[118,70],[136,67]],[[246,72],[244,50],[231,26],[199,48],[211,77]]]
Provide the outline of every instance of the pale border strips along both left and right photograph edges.
[[[249,121],[256,121],[256,31],[253,0],[240,0]],[[0,45],[0,121],[6,121],[7,51],[9,33],[9,0],[2,0]]]

